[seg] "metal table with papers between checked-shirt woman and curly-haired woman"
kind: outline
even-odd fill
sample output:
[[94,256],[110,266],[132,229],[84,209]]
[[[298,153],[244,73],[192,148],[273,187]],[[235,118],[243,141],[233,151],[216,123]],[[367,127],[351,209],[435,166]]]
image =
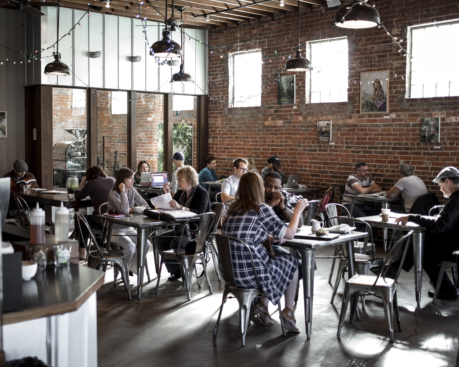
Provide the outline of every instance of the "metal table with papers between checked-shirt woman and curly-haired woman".
[[145,268],[144,248],[147,241],[149,229],[173,226],[176,222],[165,221],[162,219],[152,219],[143,214],[134,214],[131,217],[112,218],[105,215],[96,215],[98,219],[108,221],[107,243],[110,243],[112,237],[113,223],[123,226],[134,227],[137,230],[137,299],[140,300],[143,288],[143,276]]

